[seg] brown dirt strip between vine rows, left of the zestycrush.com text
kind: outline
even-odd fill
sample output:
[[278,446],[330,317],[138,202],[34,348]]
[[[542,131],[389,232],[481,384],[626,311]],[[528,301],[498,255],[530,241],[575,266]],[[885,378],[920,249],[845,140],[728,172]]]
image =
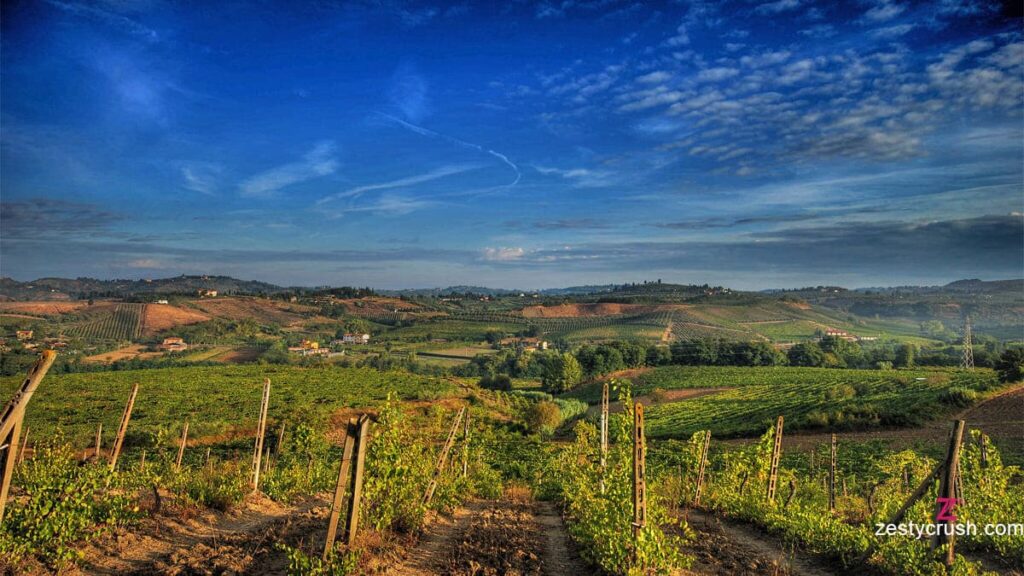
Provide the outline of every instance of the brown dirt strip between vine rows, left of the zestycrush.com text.
[[708,576],[833,576],[849,571],[782,544],[757,528],[697,509],[687,513],[696,537],[683,551],[693,557],[691,574]]

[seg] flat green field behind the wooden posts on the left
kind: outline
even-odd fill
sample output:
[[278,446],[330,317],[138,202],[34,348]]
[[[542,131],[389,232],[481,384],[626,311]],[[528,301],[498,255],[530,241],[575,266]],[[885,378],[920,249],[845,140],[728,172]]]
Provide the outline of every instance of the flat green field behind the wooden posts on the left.
[[[194,438],[252,428],[256,424],[263,378],[270,378],[271,419],[323,421],[332,412],[372,406],[394,393],[399,399],[452,394],[440,378],[370,368],[299,368],[255,365],[165,368],[79,374],[48,374],[29,405],[26,424],[34,438],[61,430],[76,447],[92,443],[96,424],[104,436],[117,429],[133,382],[139,392],[131,433],[177,429],[189,421]],[[0,379],[0,395],[10,398],[22,381]]]

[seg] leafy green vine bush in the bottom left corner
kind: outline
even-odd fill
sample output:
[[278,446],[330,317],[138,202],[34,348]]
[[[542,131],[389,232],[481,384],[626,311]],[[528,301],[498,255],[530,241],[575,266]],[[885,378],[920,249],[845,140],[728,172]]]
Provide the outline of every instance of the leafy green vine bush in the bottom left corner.
[[0,530],[0,558],[10,561],[35,554],[59,569],[81,557],[77,544],[140,517],[130,477],[105,462],[79,465],[63,443],[42,446],[13,480],[25,497],[8,503]]

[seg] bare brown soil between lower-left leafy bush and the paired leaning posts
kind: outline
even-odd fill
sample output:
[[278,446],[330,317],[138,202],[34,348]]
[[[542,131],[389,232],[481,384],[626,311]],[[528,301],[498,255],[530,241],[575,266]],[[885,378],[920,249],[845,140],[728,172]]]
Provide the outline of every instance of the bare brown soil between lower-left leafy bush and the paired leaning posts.
[[164,511],[87,545],[82,562],[68,573],[284,574],[287,558],[274,544],[321,536],[328,513],[323,498],[286,506],[254,495],[230,512],[165,502]]

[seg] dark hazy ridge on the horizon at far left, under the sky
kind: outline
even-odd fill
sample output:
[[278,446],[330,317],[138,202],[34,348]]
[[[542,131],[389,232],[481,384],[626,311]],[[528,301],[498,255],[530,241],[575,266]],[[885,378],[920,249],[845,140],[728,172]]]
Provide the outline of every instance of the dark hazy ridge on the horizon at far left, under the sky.
[[69,300],[86,298],[131,298],[144,295],[195,295],[200,290],[223,294],[272,294],[285,289],[254,280],[227,276],[176,276],[155,280],[95,280],[92,278],[40,278],[18,282],[0,278],[0,299]]

